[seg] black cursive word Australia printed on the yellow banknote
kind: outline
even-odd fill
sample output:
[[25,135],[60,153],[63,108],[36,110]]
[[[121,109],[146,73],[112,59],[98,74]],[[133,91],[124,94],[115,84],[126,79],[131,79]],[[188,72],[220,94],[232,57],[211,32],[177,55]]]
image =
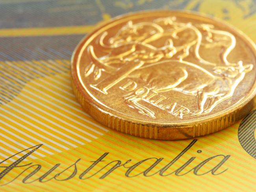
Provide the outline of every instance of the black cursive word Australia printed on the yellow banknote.
[[[18,179],[22,181],[24,184],[33,183],[33,182],[41,182],[46,183],[51,180],[55,181],[68,181],[70,179],[80,179],[81,181],[85,179],[90,179],[92,177],[96,177],[98,179],[108,179],[108,175],[110,175],[112,172],[115,172],[115,170],[119,169],[119,172],[123,172],[124,177],[127,179],[129,177],[152,177],[152,176],[160,176],[165,177],[169,175],[176,175],[176,176],[182,176],[186,174],[193,174],[193,175],[220,175],[226,172],[228,168],[225,166],[225,162],[228,161],[230,158],[230,155],[215,155],[212,157],[208,157],[207,159],[204,159],[203,161],[199,161],[199,163],[196,163],[196,166],[191,166],[191,162],[193,162],[196,157],[190,157],[187,158],[187,151],[191,149],[191,147],[197,142],[196,139],[192,140],[184,150],[182,150],[179,154],[176,155],[173,159],[166,159],[166,158],[157,158],[157,157],[150,157],[147,159],[142,159],[141,161],[134,161],[132,159],[129,159],[127,161],[121,161],[121,160],[115,160],[115,161],[108,161],[109,155],[111,155],[108,152],[103,153],[98,159],[89,159],[89,166],[85,169],[81,169],[80,163],[83,161],[82,159],[77,159],[73,164],[70,166],[63,166],[61,167],[61,163],[53,164],[52,168],[50,168],[48,171],[42,171],[41,164],[35,164],[33,162],[28,163],[28,161],[24,160],[32,155],[35,151],[39,150],[43,144],[39,144],[36,146],[33,146],[31,148],[28,148],[26,150],[20,151],[19,153],[5,159],[4,161],[0,162],[0,185],[7,185],[9,183],[12,183],[14,181],[17,181]],[[24,153],[24,151],[28,151],[27,153]],[[192,152],[192,151],[191,151]],[[191,154],[190,152],[190,154]],[[197,150],[197,153],[202,153],[202,150]],[[25,155],[24,155],[25,154]],[[185,157],[186,154],[186,157]],[[200,154],[198,154],[200,155]],[[8,159],[11,159],[13,157],[20,157],[17,161],[6,164],[6,161]],[[181,157],[183,158],[181,159]],[[185,159],[185,161],[184,161]],[[213,160],[214,159],[214,160]],[[93,161],[92,161],[93,160]],[[167,160],[166,163],[163,163],[163,160]],[[23,161],[23,162],[22,162]],[[84,160],[87,161],[88,160]],[[173,164],[177,162],[177,164],[181,165],[180,167],[175,168],[173,167]],[[208,162],[214,161],[214,163],[208,164]],[[145,167],[145,162],[148,162]],[[150,163],[149,163],[150,162]],[[161,164],[163,166],[160,166]],[[183,164],[182,164],[182,163]],[[144,164],[143,164],[144,163]],[[195,164],[195,163],[194,163]],[[206,164],[207,168],[206,168]],[[159,168],[160,166],[160,168]],[[186,169],[187,168],[187,169]],[[189,168],[189,169],[188,169]],[[137,170],[143,170],[138,172]],[[11,174],[11,172],[15,172],[15,174]],[[53,174],[57,172],[58,174]],[[13,178],[9,178],[10,175],[15,175]],[[38,176],[39,175],[39,176]],[[8,177],[8,181],[4,179],[5,177]]]

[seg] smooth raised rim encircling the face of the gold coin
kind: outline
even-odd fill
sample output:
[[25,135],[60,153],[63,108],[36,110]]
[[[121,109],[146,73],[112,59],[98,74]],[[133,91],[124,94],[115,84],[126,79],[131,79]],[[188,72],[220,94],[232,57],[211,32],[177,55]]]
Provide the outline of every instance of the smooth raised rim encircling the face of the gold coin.
[[[239,38],[241,38],[247,45],[250,45],[250,50],[254,53],[254,57],[255,57],[255,60],[256,60],[256,46],[255,46],[254,42],[249,37],[247,37],[247,35],[245,35],[245,33],[238,30],[234,26],[224,22],[223,20],[213,18],[213,17],[209,17],[206,14],[195,13],[194,11],[178,11],[178,10],[176,10],[176,11],[150,10],[150,11],[139,11],[139,12],[132,12],[132,13],[128,13],[128,14],[123,14],[123,15],[119,15],[117,17],[111,18],[110,20],[108,20],[106,22],[100,23],[100,25],[98,27],[96,27],[91,33],[87,34],[80,41],[80,43],[78,44],[78,46],[76,46],[76,48],[75,48],[75,50],[72,54],[72,58],[71,58],[71,70],[72,70],[71,78],[72,78],[72,81],[73,81],[74,85],[76,86],[76,89],[78,89],[78,91],[80,93],[82,93],[84,102],[86,102],[87,105],[96,108],[99,112],[99,115],[100,115],[100,113],[105,113],[105,114],[110,114],[112,116],[115,116],[116,118],[119,118],[119,119],[122,119],[122,120],[135,122],[137,124],[143,124],[143,125],[150,124],[152,126],[156,126],[156,127],[163,127],[164,126],[166,128],[167,127],[173,127],[173,126],[187,127],[188,125],[193,126],[195,124],[200,124],[200,123],[204,123],[204,122],[218,120],[218,119],[223,118],[224,116],[226,116],[228,114],[233,113],[234,111],[236,111],[238,109],[243,108],[247,103],[249,103],[250,100],[252,100],[252,98],[256,94],[256,79],[254,79],[254,84],[252,85],[251,89],[249,90],[247,96],[242,97],[240,100],[238,100],[232,106],[228,107],[227,109],[225,109],[223,111],[219,111],[219,112],[211,114],[209,116],[200,117],[200,118],[196,118],[196,119],[177,120],[177,121],[172,121],[172,122],[166,122],[165,123],[165,122],[158,122],[157,120],[143,120],[143,118],[130,116],[130,115],[127,115],[127,114],[122,113],[120,111],[116,111],[115,109],[111,109],[110,107],[106,106],[104,103],[101,103],[100,101],[98,101],[98,99],[95,98],[95,96],[93,96],[93,94],[91,92],[89,92],[89,90],[87,91],[87,88],[83,84],[81,76],[79,74],[80,71],[78,70],[79,69],[79,64],[80,64],[79,63],[79,57],[81,57],[81,55],[84,51],[83,47],[87,47],[87,45],[85,46],[86,42],[89,39],[93,38],[93,35],[95,35],[95,33],[97,31],[101,30],[104,27],[107,27],[112,22],[118,22],[119,20],[122,20],[122,19],[125,19],[125,18],[135,17],[135,16],[139,16],[139,15],[143,15],[143,14],[154,14],[154,15],[159,14],[159,15],[161,15],[161,13],[163,13],[163,12],[171,13],[172,15],[174,15],[176,13],[178,15],[182,15],[182,17],[187,16],[188,18],[191,18],[189,16],[193,16],[196,19],[198,17],[200,17],[199,18],[200,20],[211,20],[213,22],[223,24],[225,27],[229,28],[232,32],[234,32],[235,35],[239,36]],[[254,64],[254,66],[256,66],[256,65]],[[115,113],[111,113],[113,111]]]

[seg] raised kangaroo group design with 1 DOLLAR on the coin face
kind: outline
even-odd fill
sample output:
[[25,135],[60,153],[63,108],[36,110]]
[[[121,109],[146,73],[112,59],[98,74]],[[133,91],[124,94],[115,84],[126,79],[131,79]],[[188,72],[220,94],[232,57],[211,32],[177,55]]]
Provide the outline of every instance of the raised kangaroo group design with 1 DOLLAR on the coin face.
[[[236,46],[228,31],[176,17],[128,21],[117,33],[105,31],[97,38],[97,45],[87,47],[90,63],[84,76],[95,82],[89,86],[104,95],[119,87],[125,105],[150,118],[156,118],[156,107],[180,119],[208,114],[233,96],[253,68],[228,61]],[[104,54],[97,56],[98,50]],[[208,59],[201,50],[217,54]],[[193,96],[195,109],[172,100],[170,92]]]

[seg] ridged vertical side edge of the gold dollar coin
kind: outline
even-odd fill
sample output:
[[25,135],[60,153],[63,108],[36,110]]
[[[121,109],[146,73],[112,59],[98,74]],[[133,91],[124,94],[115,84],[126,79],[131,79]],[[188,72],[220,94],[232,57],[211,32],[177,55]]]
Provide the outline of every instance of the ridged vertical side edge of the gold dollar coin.
[[73,79],[71,80],[76,98],[82,105],[83,109],[85,109],[85,111],[87,111],[87,113],[89,113],[93,118],[116,131],[143,138],[178,140],[208,135],[232,126],[237,120],[245,117],[253,107],[253,100],[251,100],[241,109],[237,109],[232,113],[225,114],[222,117],[215,118],[210,121],[204,121],[198,124],[189,124],[186,126],[158,127],[118,118],[109,113],[104,113],[104,111],[97,110],[95,107],[91,107],[90,103],[84,99],[82,93],[76,87]]

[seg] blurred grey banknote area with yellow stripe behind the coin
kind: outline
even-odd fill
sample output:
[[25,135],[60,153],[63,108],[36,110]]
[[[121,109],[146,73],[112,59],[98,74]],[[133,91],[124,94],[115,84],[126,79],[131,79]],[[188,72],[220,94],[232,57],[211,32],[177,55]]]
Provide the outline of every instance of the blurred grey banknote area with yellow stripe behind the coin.
[[70,59],[95,24],[145,9],[206,13],[256,41],[256,0],[0,0],[0,60]]

